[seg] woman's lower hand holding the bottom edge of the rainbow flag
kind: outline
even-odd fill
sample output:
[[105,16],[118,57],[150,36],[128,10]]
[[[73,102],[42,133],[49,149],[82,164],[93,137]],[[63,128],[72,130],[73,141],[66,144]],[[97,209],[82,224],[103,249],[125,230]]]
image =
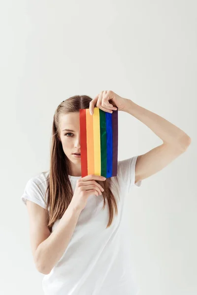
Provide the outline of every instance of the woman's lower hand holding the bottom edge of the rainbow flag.
[[[106,178],[105,178],[106,179]],[[95,180],[104,181],[102,176],[88,175],[77,179],[74,194],[71,200],[72,206],[75,209],[83,210],[86,207],[88,197],[90,195],[99,196],[104,191],[101,185]]]

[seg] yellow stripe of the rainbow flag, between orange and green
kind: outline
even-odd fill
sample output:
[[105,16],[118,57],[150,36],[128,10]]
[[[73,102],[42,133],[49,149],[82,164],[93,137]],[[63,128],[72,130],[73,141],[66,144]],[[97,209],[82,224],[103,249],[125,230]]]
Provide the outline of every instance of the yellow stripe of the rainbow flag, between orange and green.
[[94,155],[95,155],[95,175],[100,175],[100,115],[99,108],[94,108],[93,115],[94,129]]

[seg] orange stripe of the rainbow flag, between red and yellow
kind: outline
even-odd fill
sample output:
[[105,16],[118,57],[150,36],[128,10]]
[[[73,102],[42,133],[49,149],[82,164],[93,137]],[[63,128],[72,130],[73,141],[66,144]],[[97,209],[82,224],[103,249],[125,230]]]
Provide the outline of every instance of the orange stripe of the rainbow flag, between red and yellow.
[[88,175],[90,175],[90,174],[95,174],[95,161],[94,161],[93,116],[90,115],[89,109],[86,109],[86,139],[87,139]]

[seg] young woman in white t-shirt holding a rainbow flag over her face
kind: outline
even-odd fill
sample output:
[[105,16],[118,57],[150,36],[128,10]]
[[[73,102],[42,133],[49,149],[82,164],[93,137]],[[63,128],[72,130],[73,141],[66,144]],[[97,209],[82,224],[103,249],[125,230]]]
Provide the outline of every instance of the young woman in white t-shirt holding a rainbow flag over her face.
[[[163,144],[118,161],[117,177],[81,177],[79,110],[89,108],[93,114],[94,107],[131,114]],[[33,260],[45,274],[45,295],[138,294],[124,231],[126,194],[161,171],[190,143],[178,127],[113,91],[101,91],[95,99],[73,96],[58,106],[50,171],[32,177],[22,196],[30,217]]]

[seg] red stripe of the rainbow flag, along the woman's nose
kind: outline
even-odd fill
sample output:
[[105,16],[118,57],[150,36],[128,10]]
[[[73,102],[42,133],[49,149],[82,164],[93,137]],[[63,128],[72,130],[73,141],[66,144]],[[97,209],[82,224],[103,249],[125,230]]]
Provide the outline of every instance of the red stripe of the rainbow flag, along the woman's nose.
[[79,110],[80,116],[80,145],[81,145],[81,177],[88,175],[87,144],[86,144],[86,110]]

